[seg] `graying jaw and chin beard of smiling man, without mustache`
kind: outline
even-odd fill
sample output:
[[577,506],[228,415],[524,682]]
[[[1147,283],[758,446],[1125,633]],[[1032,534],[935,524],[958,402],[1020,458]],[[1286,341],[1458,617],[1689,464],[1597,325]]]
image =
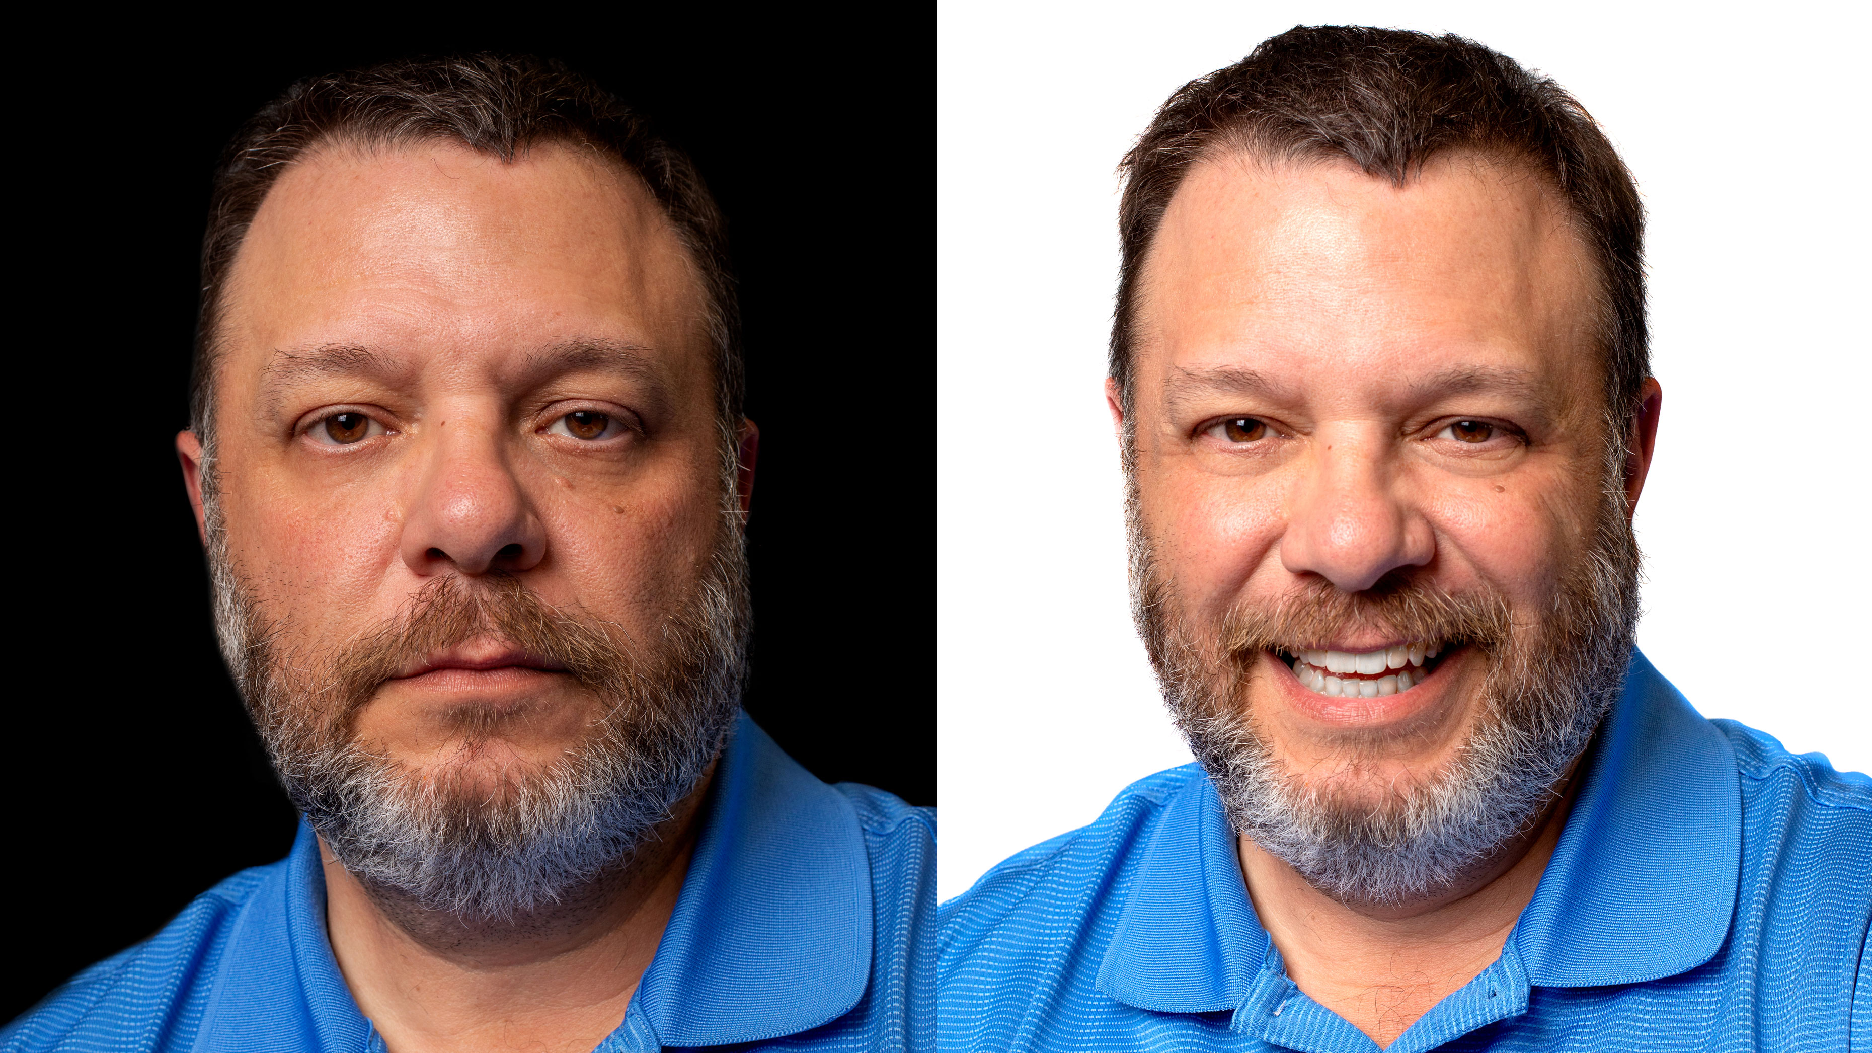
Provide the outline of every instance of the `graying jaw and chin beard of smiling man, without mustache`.
[[[1234,830],[1337,901],[1391,907],[1462,886],[1554,802],[1623,688],[1638,549],[1623,502],[1608,500],[1544,639],[1483,652],[1488,718],[1441,772],[1391,787],[1380,802],[1335,793],[1331,779],[1307,785],[1284,768],[1249,716],[1239,675],[1213,673],[1236,661],[1204,658],[1174,626],[1172,594],[1136,525],[1133,609],[1164,701]],[[1217,691],[1217,680],[1234,682]]]

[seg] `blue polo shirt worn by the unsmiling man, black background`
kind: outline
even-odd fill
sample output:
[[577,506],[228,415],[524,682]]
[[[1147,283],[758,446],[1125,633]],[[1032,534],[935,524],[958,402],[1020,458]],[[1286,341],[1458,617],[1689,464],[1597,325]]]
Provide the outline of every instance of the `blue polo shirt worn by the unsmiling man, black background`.
[[[934,811],[829,787],[741,716],[704,815],[655,959],[597,1051],[929,1049]],[[75,976],[0,1049],[382,1053],[384,1040],[331,957],[301,823],[292,854]]]

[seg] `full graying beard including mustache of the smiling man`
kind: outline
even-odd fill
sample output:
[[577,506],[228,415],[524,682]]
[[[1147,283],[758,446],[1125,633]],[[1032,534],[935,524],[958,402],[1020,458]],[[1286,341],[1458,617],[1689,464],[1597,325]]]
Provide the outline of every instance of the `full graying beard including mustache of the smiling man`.
[[[1236,834],[1340,903],[1395,907],[1458,888],[1541,821],[1631,663],[1640,556],[1625,491],[1616,485],[1623,446],[1608,444],[1591,543],[1565,570],[1531,639],[1513,631],[1507,601],[1492,590],[1449,596],[1397,579],[1380,583],[1389,594],[1370,600],[1314,583],[1277,613],[1237,611],[1221,628],[1192,626],[1142,523],[1131,437],[1125,448],[1133,618],[1170,714]],[[1464,639],[1488,660],[1483,716],[1455,761],[1383,787],[1378,804],[1374,787],[1340,793],[1331,776],[1309,783],[1288,770],[1254,719],[1247,680],[1264,646],[1294,643],[1280,630],[1361,620],[1389,624],[1406,639]],[[1350,774],[1359,774],[1357,761]]]

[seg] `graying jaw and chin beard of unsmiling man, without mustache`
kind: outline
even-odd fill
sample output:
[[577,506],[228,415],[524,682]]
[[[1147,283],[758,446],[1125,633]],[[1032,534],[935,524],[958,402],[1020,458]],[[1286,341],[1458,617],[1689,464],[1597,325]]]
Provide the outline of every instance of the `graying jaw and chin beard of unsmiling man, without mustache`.
[[[331,718],[346,688],[300,682],[313,663],[277,633],[210,532],[223,652],[294,806],[365,886],[464,924],[526,916],[625,866],[719,755],[747,676],[745,551],[734,521],[691,607],[665,622],[659,661],[614,676],[599,734],[498,785],[410,772]],[[339,704],[343,708],[343,704]]]

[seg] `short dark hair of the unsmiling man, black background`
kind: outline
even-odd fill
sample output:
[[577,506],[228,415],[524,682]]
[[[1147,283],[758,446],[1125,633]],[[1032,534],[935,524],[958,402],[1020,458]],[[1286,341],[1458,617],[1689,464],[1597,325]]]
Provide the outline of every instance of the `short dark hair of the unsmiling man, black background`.
[[228,268],[273,182],[324,144],[438,141],[502,161],[535,144],[573,142],[622,163],[650,187],[700,275],[715,356],[715,410],[732,446],[745,390],[739,309],[721,210],[695,163],[588,77],[558,62],[498,54],[399,60],[307,77],[234,135],[215,169],[202,236],[202,300],[189,378],[189,425],[197,435],[206,442],[213,427],[215,339]]

